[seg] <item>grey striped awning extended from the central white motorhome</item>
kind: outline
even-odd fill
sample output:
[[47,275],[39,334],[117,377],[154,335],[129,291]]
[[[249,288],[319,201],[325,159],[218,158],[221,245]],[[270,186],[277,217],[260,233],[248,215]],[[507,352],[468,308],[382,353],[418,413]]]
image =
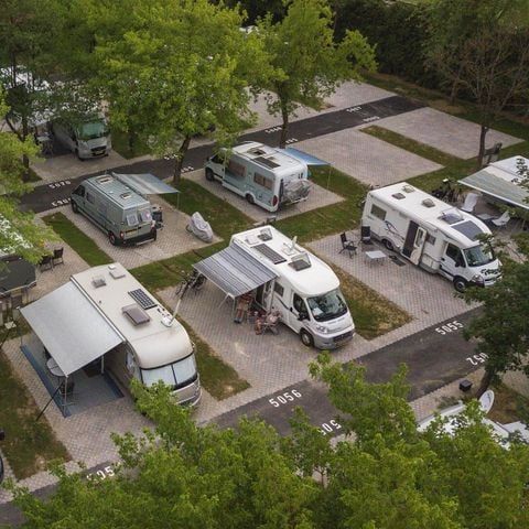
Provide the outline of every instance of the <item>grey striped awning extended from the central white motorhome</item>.
[[278,277],[236,245],[228,246],[193,267],[230,298],[246,294]]

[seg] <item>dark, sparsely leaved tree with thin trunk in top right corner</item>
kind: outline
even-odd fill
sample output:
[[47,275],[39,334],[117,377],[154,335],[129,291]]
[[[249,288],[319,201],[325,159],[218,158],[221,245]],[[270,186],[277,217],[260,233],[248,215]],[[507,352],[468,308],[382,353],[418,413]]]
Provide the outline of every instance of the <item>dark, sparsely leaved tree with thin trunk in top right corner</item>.
[[516,98],[529,95],[529,15],[523,0],[439,0],[432,3],[428,62],[476,104],[478,166],[486,134]]

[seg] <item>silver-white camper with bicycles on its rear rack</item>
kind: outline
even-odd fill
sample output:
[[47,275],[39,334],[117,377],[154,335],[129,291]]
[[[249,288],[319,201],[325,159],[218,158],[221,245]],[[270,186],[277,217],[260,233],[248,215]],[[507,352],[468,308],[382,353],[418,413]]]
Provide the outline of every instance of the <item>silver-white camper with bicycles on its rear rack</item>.
[[206,160],[205,175],[244,196],[250,204],[277,212],[280,206],[306,199],[311,191],[306,163],[285,152],[247,141]]

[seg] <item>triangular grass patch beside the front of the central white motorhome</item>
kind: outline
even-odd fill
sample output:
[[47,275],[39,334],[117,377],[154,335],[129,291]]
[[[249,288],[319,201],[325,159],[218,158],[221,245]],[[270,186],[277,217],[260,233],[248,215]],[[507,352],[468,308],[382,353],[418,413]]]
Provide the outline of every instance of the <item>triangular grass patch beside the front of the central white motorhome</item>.
[[349,305],[356,332],[366,339],[373,339],[382,334],[411,322],[411,316],[387,300],[378,292],[346,273],[339,267],[332,264],[339,279],[345,301]]

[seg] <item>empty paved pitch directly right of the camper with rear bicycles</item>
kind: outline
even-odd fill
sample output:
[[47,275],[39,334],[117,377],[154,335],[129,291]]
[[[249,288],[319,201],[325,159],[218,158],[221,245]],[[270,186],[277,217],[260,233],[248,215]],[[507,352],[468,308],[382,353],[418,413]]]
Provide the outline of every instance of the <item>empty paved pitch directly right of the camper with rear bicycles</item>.
[[[377,121],[377,125],[381,121]],[[438,163],[366,134],[357,128],[300,141],[295,148],[322,158],[365,184],[377,186],[442,168]]]

